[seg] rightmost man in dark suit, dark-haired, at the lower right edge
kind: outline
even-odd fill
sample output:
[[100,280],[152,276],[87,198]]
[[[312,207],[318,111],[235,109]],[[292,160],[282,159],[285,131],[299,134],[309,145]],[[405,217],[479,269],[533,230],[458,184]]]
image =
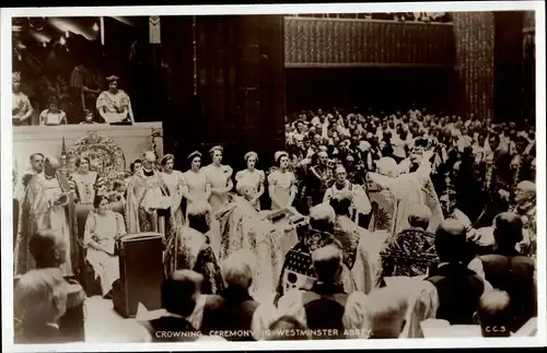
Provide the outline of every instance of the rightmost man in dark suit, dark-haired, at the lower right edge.
[[493,252],[481,256],[480,260],[486,280],[511,297],[513,320],[510,329],[515,332],[537,315],[535,263],[515,249],[523,238],[522,221],[517,214],[499,214],[493,222]]

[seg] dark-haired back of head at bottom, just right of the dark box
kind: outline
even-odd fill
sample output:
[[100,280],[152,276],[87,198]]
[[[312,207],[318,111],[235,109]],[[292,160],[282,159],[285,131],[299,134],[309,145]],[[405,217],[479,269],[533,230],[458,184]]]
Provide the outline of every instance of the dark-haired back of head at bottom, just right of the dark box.
[[173,272],[162,284],[162,306],[168,313],[189,316],[201,293],[203,276],[190,270]]

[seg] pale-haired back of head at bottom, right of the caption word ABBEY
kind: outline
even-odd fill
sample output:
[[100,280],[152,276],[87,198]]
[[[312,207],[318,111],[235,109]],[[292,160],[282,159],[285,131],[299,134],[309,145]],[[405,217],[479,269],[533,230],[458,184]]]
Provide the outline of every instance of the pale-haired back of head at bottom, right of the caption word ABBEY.
[[372,339],[396,339],[405,326],[407,297],[391,287],[373,290],[365,299],[364,328]]

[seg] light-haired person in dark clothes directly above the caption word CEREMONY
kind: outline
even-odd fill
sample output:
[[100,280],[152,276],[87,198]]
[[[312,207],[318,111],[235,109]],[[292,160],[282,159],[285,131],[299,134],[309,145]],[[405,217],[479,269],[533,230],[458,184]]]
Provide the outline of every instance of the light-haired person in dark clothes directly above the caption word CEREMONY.
[[[253,282],[252,254],[243,251],[232,254],[221,263],[225,289],[217,295],[208,295],[203,310],[201,332],[211,331],[249,331],[253,315],[258,303],[251,297],[248,290]],[[230,337],[229,341],[253,341],[253,337]]]

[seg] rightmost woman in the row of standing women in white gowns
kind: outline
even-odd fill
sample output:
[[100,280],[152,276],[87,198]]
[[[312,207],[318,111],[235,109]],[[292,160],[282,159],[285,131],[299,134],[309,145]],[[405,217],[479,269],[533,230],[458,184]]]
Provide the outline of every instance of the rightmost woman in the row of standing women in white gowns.
[[296,196],[296,178],[289,172],[289,154],[278,151],[275,154],[278,169],[268,176],[269,196],[272,210],[291,208]]

